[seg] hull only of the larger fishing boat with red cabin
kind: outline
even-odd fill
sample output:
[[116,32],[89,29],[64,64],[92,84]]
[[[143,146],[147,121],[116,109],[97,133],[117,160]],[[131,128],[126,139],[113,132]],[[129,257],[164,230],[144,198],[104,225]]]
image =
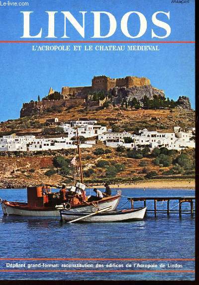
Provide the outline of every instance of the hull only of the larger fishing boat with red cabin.
[[[120,195],[106,197],[98,202],[95,202],[95,205],[99,209],[110,206],[109,210],[114,210],[120,199]],[[28,207],[26,203],[15,203],[5,200],[0,200],[2,211],[4,215],[19,215],[19,216],[59,216],[60,207]],[[77,206],[72,206],[70,209],[71,212],[95,212],[97,207],[92,203],[82,204]]]

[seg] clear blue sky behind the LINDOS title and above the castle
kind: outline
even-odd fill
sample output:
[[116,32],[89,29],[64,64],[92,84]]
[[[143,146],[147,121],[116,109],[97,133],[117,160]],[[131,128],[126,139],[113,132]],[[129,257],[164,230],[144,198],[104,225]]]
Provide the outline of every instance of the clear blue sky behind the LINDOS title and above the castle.
[[[146,33],[136,40],[161,40],[151,39],[152,28],[157,34],[164,34],[163,29],[155,27],[152,23],[151,17],[156,11],[170,11],[170,20],[164,15],[159,17],[171,26],[170,36],[163,41],[195,40],[193,0],[185,4],[171,3],[171,0],[54,0],[53,2],[29,0],[28,2],[28,7],[0,6],[0,40],[23,40],[20,38],[23,34],[23,16],[20,11],[34,11],[30,21],[31,34],[37,34],[42,27],[41,40],[48,40],[45,38],[48,32],[48,17],[45,11],[58,11],[55,16],[55,34],[57,40],[66,40],[66,44],[67,40],[95,40],[91,38],[93,14],[90,11],[108,11],[116,18],[117,29],[114,35],[104,40],[133,40],[125,37],[120,30],[121,17],[128,11],[139,11],[147,19]],[[61,38],[64,33],[64,16],[61,11],[70,11],[80,23],[79,11],[88,11],[85,16],[85,39],[71,24],[67,26],[70,38]],[[132,34],[139,31],[139,21],[136,16],[129,18],[128,28]],[[102,33],[108,31],[106,17],[102,17],[101,31]],[[0,121],[19,117],[23,102],[36,100],[38,95],[40,97],[47,95],[50,87],[61,91],[62,86],[90,86],[93,76],[102,74],[111,78],[128,75],[147,77],[151,80],[152,86],[163,89],[167,97],[177,99],[180,95],[189,96],[192,107],[195,108],[194,44],[157,44],[160,49],[157,52],[95,50],[36,52],[32,51],[32,45],[0,43]],[[93,44],[94,48],[96,45]]]

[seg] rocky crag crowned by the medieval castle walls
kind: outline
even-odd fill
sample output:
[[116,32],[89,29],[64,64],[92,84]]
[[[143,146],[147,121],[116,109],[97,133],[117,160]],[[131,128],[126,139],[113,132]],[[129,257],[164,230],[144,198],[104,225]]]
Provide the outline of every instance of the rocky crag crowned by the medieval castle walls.
[[[118,79],[120,84],[116,84],[116,80],[112,80],[112,84],[109,86],[108,81],[110,78],[100,77],[93,79],[97,85],[92,85],[89,89],[83,88],[62,88],[62,94],[54,91],[50,88],[49,94],[42,98],[40,96],[38,101],[31,100],[28,103],[23,103],[20,110],[20,117],[32,116],[35,114],[44,114],[51,110],[57,111],[65,107],[72,108],[75,106],[83,106],[87,110],[99,110],[109,104],[113,106],[120,106],[125,103],[131,107],[139,108],[140,106],[147,109],[161,107],[176,106],[184,109],[191,109],[190,100],[186,96],[180,96],[178,101],[166,99],[164,91],[157,89],[150,85],[150,81],[144,78],[124,78]],[[129,84],[129,80],[132,80]],[[142,82],[143,81],[143,82]],[[128,82],[128,84],[127,84]],[[92,83],[93,84],[93,83]],[[73,91],[73,94],[72,94]],[[65,94],[66,93],[66,94]]]

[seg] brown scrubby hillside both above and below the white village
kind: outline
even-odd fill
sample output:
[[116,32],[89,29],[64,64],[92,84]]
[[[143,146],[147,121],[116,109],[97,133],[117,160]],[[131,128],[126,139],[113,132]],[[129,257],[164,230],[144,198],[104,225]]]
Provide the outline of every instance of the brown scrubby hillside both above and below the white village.
[[[187,128],[195,125],[195,111],[184,108],[174,109],[125,109],[110,106],[107,109],[101,109],[98,112],[88,112],[83,106],[78,107],[62,107],[59,112],[47,112],[45,114],[37,114],[32,117],[24,117],[16,120],[8,120],[0,124],[0,136],[16,132],[42,132],[46,126],[46,119],[57,117],[59,121],[78,120],[81,118],[96,119],[100,124],[106,125],[115,131],[136,132],[141,128],[159,131],[173,131],[174,126]],[[42,133],[41,133],[42,135]],[[108,153],[96,155],[96,149],[107,149],[105,145],[98,142],[92,149],[83,150],[83,168],[84,174],[87,175],[86,181],[98,181],[99,183],[106,179],[105,168],[101,169],[97,166],[98,160],[106,160],[109,168],[114,165],[122,165],[121,170],[115,174],[114,181],[117,183],[143,180],[146,173],[155,171],[161,176],[163,173],[170,173],[174,165],[169,167],[159,167],[154,164],[153,157],[143,157],[142,159],[129,158],[125,152],[118,153],[115,149],[109,148]],[[60,184],[63,181],[69,181],[72,177],[56,173],[53,165],[53,158],[56,155],[72,159],[74,151],[51,151],[51,152],[16,152],[16,153],[0,153],[0,187],[25,187],[31,184],[47,183]],[[194,153],[189,154],[193,157]],[[176,154],[177,156],[177,154]],[[193,158],[194,159],[194,158]],[[143,163],[142,163],[143,161]],[[92,169],[92,171],[90,171]],[[52,172],[48,172],[52,170]],[[186,173],[185,169],[181,169],[182,174]],[[90,172],[90,173],[89,173]],[[50,173],[51,175],[46,175]],[[172,170],[171,173],[176,173]],[[188,172],[189,174],[189,172]],[[108,178],[110,179],[110,177]]]

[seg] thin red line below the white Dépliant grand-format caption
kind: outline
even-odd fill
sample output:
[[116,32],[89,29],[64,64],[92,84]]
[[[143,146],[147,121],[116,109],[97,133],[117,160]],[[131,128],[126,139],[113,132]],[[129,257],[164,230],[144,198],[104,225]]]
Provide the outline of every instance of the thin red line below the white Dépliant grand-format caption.
[[0,272],[190,272],[195,273],[195,270],[0,270]]

